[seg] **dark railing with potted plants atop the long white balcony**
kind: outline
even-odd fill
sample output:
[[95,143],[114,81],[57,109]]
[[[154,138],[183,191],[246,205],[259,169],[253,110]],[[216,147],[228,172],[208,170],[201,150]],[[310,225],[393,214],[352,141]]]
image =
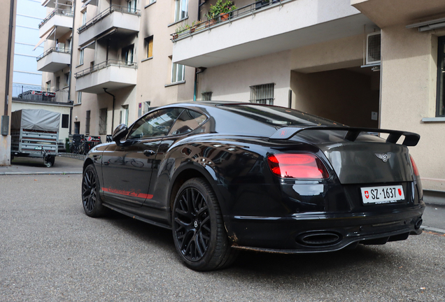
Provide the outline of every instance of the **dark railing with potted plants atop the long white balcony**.
[[253,3],[250,3],[246,6],[243,6],[241,8],[237,8],[236,10],[232,10],[232,12],[227,14],[221,14],[217,17],[214,17],[213,19],[209,19],[206,21],[198,21],[197,24],[192,25],[185,25],[185,28],[182,29],[179,28],[176,33],[171,34],[171,41],[176,41],[178,38],[182,38],[185,36],[190,36],[195,32],[204,31],[206,29],[211,29],[212,26],[219,24],[221,22],[232,22],[233,19],[242,17],[245,15],[253,15],[258,12],[258,10],[265,8],[267,6],[270,6],[272,4],[276,3],[283,3],[288,2],[292,0],[264,0],[264,1],[256,1]]

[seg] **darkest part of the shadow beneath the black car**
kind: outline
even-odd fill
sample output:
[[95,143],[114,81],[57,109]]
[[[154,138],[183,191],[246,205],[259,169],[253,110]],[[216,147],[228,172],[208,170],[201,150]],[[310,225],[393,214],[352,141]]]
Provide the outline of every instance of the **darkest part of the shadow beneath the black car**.
[[[120,213],[111,212],[103,218],[113,227],[119,228],[126,234],[131,234],[147,244],[154,245],[162,253],[168,253],[169,257],[176,257],[176,248],[171,230],[156,227],[146,222],[135,220]],[[321,272],[348,271],[349,269],[362,268],[376,262],[390,264],[395,255],[386,252],[382,246],[358,245],[355,250],[340,250],[337,252],[314,254],[278,254],[265,252],[241,251],[239,257],[229,268],[209,273],[217,273],[233,278],[236,275],[289,275],[302,276]],[[178,259],[178,261],[180,261]],[[368,268],[369,269],[369,268]],[[371,268],[372,269],[372,268]]]

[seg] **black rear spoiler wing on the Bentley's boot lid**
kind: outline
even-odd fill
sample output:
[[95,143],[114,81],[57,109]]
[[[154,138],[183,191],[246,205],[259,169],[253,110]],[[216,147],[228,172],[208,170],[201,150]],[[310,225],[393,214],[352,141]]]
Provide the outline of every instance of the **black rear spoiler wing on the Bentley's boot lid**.
[[388,138],[386,138],[386,143],[397,143],[401,136],[404,136],[405,139],[402,145],[406,146],[415,146],[418,141],[421,139],[421,136],[415,134],[413,132],[407,131],[397,131],[397,130],[387,130],[387,129],[372,129],[372,128],[358,128],[358,127],[330,127],[330,126],[292,126],[292,127],[283,127],[278,129],[272,136],[269,138],[271,140],[288,140],[295,136],[295,134],[299,134],[302,131],[307,130],[335,130],[335,131],[347,131],[344,139],[346,141],[355,141],[360,133],[362,132],[374,132],[374,133],[385,133],[389,134]]

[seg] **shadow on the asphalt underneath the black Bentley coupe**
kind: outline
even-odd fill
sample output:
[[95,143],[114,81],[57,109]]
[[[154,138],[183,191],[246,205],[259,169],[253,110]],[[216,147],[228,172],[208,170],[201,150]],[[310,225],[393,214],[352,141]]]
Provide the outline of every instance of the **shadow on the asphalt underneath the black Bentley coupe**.
[[[171,230],[114,211],[109,211],[106,217],[99,219],[122,231],[122,236],[132,236],[159,250],[165,257],[176,258],[178,264],[183,265],[177,256]],[[229,268],[196,273],[208,274],[211,278],[227,278],[227,281],[239,279],[242,282],[245,278],[251,278],[252,282],[285,280],[283,282],[288,282],[289,285],[295,285],[295,278],[314,278],[314,276],[350,280],[351,276],[366,272],[371,278],[372,275],[379,275],[382,267],[393,267],[400,262],[400,254],[395,252],[397,249],[393,249],[393,245],[397,243],[358,245],[354,250],[313,254],[240,251],[239,257]]]

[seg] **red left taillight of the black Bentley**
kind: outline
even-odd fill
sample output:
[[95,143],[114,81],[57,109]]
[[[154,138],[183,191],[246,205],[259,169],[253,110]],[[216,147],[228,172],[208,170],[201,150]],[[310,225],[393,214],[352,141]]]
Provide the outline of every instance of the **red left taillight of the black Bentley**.
[[281,178],[323,179],[329,172],[323,162],[309,153],[278,153],[267,157],[272,173]]

